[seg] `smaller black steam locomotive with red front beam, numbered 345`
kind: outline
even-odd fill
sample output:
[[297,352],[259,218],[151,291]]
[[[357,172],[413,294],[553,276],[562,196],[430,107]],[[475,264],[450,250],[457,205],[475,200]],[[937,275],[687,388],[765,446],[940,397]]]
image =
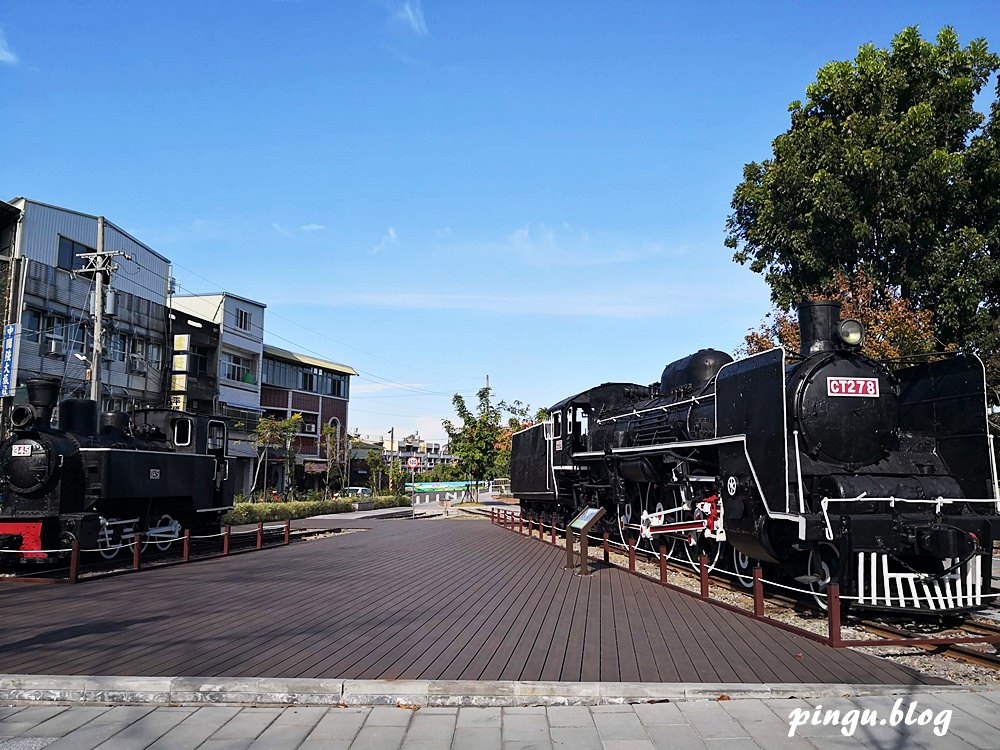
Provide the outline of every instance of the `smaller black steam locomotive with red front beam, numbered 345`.
[[44,560],[74,540],[110,559],[136,532],[165,550],[182,529],[219,528],[233,504],[225,422],[168,409],[98,416],[96,402],[65,399],[55,429],[59,381],[27,390],[0,443],[0,560]]

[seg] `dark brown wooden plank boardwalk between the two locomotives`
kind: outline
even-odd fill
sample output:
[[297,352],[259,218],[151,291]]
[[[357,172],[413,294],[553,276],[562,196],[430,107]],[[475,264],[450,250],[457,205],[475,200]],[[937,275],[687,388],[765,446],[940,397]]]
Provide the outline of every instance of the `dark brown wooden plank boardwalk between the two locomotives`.
[[[364,524],[361,524],[364,525]],[[488,520],[363,531],[76,586],[0,583],[14,674],[920,683]]]

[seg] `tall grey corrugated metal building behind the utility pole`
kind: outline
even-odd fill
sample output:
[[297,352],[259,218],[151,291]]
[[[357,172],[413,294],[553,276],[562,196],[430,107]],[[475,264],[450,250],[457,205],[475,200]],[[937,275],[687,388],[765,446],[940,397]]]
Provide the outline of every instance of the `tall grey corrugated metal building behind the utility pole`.
[[105,221],[104,250],[120,251],[104,307],[104,353],[93,356],[93,279],[74,272],[97,248],[98,217],[15,198],[6,319],[21,324],[18,383],[62,378],[61,397],[89,395],[87,371],[101,368],[104,409],[162,405],[170,261]]

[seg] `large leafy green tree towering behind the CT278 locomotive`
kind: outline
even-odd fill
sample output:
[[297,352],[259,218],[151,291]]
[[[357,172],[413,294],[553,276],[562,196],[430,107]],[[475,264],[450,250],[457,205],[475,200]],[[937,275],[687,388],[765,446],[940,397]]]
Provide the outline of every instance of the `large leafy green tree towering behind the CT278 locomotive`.
[[[1000,68],[982,39],[917,27],[831,62],[789,107],[773,158],[744,167],[726,245],[782,310],[835,275],[933,310],[938,338],[983,350],[1000,300],[1000,109],[975,97]],[[876,303],[884,301],[884,298]]]

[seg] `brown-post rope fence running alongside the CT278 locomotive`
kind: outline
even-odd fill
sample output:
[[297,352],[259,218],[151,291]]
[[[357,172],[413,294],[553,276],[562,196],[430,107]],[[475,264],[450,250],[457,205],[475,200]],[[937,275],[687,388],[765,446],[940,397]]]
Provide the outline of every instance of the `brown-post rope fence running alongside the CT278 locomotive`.
[[[495,509],[495,508],[491,509],[491,511],[490,511],[490,521],[494,525],[502,526],[502,527],[504,527],[504,528],[506,528],[506,529],[508,529],[510,531],[516,531],[517,533],[522,534],[522,535],[525,534],[525,533],[527,533],[527,535],[529,537],[533,537],[535,535],[535,531],[537,531],[538,538],[541,541],[546,542],[547,544],[551,544],[553,546],[557,545],[557,541],[556,541],[557,540],[557,527],[556,527],[555,521],[551,522],[548,525],[548,529],[545,528],[544,524],[542,524],[542,523],[535,524],[534,521],[530,520],[530,519],[528,520],[527,525],[526,525],[525,522],[524,522],[524,519],[521,518],[520,512],[518,512],[517,514],[515,514],[512,511],[498,510],[498,509]],[[571,545],[573,545],[575,543],[574,542],[574,536],[576,536],[576,535],[574,535],[572,533],[572,530],[570,530],[570,529],[559,529],[558,531],[563,532],[567,548],[569,548]],[[549,536],[549,539],[546,540],[545,536]],[[595,534],[587,534],[585,536],[586,536],[586,539],[587,539],[588,542],[589,541],[595,541],[595,542],[598,542],[601,545],[601,547],[603,549],[603,558],[604,558],[604,563],[605,564],[607,564],[607,565],[613,565],[613,563],[611,562],[611,548],[615,547],[617,550],[621,551],[622,553],[624,553],[624,554],[626,554],[628,556],[628,572],[629,573],[631,573],[633,575],[637,575],[637,576],[639,576],[641,578],[645,578],[647,580],[656,581],[656,579],[653,578],[652,576],[644,574],[644,573],[639,572],[639,571],[636,570],[636,546],[635,546],[634,540],[629,539],[628,544],[614,542],[614,541],[610,540],[607,532],[603,532],[601,534],[601,536],[599,536],[599,537],[596,536]],[[588,545],[584,545],[583,544],[583,540],[581,539],[581,552],[584,549],[587,549],[587,546]],[[843,625],[843,620],[842,620],[842,615],[841,615],[841,605],[840,605],[840,603],[841,603],[841,601],[858,601],[862,597],[858,597],[858,596],[842,596],[840,594],[840,584],[837,583],[836,581],[831,581],[828,584],[826,584],[825,590],[813,590],[813,589],[799,588],[799,587],[796,587],[796,586],[789,586],[789,585],[784,584],[784,583],[779,583],[777,581],[771,581],[771,580],[765,579],[762,576],[762,573],[761,573],[762,569],[761,569],[761,567],[760,567],[759,564],[754,565],[754,567],[752,568],[752,571],[751,571],[752,572],[752,577],[748,576],[748,575],[745,575],[745,574],[736,573],[735,571],[726,571],[726,572],[732,572],[733,574],[737,575],[739,578],[741,578],[743,580],[746,580],[748,578],[751,580],[751,582],[752,582],[751,583],[752,600],[753,600],[753,611],[751,612],[750,610],[746,609],[745,607],[740,607],[740,606],[737,606],[735,604],[731,604],[729,602],[724,602],[724,601],[722,601],[722,600],[720,600],[718,598],[713,598],[711,596],[711,589],[710,589],[710,585],[711,584],[710,584],[710,579],[709,579],[709,573],[716,566],[715,566],[714,563],[712,565],[709,565],[709,561],[708,561],[708,556],[707,555],[700,554],[699,557],[698,557],[697,562],[695,562],[695,561],[691,560],[690,558],[680,558],[680,557],[675,557],[673,555],[668,554],[667,553],[666,544],[661,544],[659,549],[660,549],[659,552],[656,552],[655,550],[653,550],[653,554],[656,555],[659,558],[659,563],[660,563],[660,571],[659,571],[659,573],[660,573],[660,575],[659,575],[658,583],[661,586],[664,586],[665,588],[669,588],[669,589],[671,589],[673,591],[677,591],[679,593],[685,594],[687,596],[697,597],[697,598],[701,599],[702,601],[705,601],[705,602],[707,602],[709,604],[712,604],[714,606],[721,607],[723,609],[726,609],[726,610],[731,611],[731,612],[735,612],[735,613],[743,615],[745,617],[750,617],[752,619],[755,619],[755,620],[758,620],[758,621],[761,621],[761,622],[765,622],[765,623],[767,623],[769,625],[772,625],[774,627],[777,627],[777,628],[780,628],[782,630],[794,633],[796,635],[800,635],[800,636],[802,636],[804,638],[808,638],[809,640],[812,640],[812,641],[817,641],[819,643],[823,643],[825,645],[832,646],[834,648],[846,648],[846,647],[853,647],[853,646],[911,646],[911,645],[912,646],[923,646],[923,645],[956,645],[956,644],[968,644],[968,643],[1000,643],[1000,635],[996,635],[996,636],[969,636],[969,637],[940,637],[940,638],[938,638],[938,637],[917,637],[917,638],[895,638],[895,639],[889,638],[889,639],[851,639],[851,640],[845,640],[842,637],[842,635],[841,635],[841,628],[842,628],[842,625]],[[569,556],[569,553],[568,553],[568,556]],[[693,568],[699,574],[700,590],[699,591],[695,591],[695,590],[687,588],[685,586],[679,586],[679,585],[677,585],[675,583],[670,583],[669,580],[668,580],[668,575],[667,575],[668,574],[668,571],[667,571],[667,561],[668,560],[672,560],[675,563],[680,564],[682,566]],[[584,562],[585,561],[581,560],[581,569],[584,567]],[[766,600],[765,600],[765,597],[764,597],[764,586],[765,586],[765,584],[767,586],[771,586],[771,587],[774,587],[774,588],[783,589],[783,590],[786,590],[786,591],[795,592],[797,594],[804,594],[804,595],[806,595],[808,597],[812,597],[814,600],[817,601],[817,603],[819,603],[820,600],[825,600],[825,602],[826,602],[825,609],[826,609],[826,615],[827,615],[827,633],[826,633],[826,635],[824,636],[824,635],[822,635],[820,633],[815,633],[815,632],[813,632],[811,630],[806,630],[805,628],[798,627],[796,625],[792,625],[792,624],[786,623],[786,622],[784,622],[782,620],[778,620],[778,619],[775,619],[774,617],[771,617],[771,616],[767,615],[766,614],[766,609],[765,609]],[[979,596],[981,596],[984,599],[986,599],[986,598],[993,599],[993,598],[1000,597],[1000,592],[979,594]]]

